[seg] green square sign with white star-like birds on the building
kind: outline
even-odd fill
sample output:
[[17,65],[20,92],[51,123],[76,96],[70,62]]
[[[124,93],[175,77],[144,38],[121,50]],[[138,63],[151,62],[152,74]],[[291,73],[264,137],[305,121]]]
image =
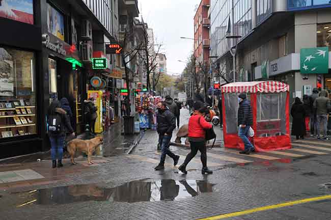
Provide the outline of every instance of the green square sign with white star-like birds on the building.
[[300,51],[301,74],[328,73],[328,47],[302,48]]

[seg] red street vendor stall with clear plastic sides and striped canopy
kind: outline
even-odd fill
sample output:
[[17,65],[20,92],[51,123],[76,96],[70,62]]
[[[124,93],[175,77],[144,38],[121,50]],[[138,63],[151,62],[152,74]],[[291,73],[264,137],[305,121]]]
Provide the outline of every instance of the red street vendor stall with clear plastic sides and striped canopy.
[[222,86],[224,145],[244,149],[238,136],[238,95],[246,93],[253,110],[256,151],[291,148],[289,86],[278,81],[234,82]]

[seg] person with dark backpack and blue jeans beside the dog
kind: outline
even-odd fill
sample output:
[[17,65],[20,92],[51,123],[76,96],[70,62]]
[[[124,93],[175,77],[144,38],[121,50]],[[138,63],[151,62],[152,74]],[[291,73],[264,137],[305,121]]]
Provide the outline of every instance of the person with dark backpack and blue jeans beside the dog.
[[[50,154],[52,158],[52,168],[63,167],[62,157],[63,157],[63,146],[66,136],[66,129],[75,136],[75,133],[70,125],[69,118],[61,108],[61,103],[54,100],[50,103],[48,107],[47,114],[48,123],[48,136],[50,141]],[[58,164],[57,164],[58,159]]]

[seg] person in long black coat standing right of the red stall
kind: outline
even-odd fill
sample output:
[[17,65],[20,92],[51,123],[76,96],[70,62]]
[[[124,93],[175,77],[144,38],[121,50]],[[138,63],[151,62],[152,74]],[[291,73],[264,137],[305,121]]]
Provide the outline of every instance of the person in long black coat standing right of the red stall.
[[296,140],[304,139],[306,135],[306,109],[300,98],[296,97],[291,108],[292,122],[292,135],[296,136]]

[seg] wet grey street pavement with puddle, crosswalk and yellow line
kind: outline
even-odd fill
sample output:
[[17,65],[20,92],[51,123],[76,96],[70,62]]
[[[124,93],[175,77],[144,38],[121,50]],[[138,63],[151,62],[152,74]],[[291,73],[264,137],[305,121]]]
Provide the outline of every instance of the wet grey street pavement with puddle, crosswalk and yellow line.
[[[186,109],[181,111],[181,120],[188,120]],[[1,215],[4,219],[331,216],[330,142],[302,140],[294,142],[290,150],[250,155],[223,147],[209,149],[208,167],[214,173],[208,176],[201,175],[200,153],[189,163],[187,175],[178,173],[170,158],[164,171],[154,171],[159,162],[156,142],[156,131],[147,130],[131,154],[94,156],[93,166],[84,157],[77,159],[76,166],[65,159],[61,169],[51,169],[50,160],[3,161]],[[189,152],[184,147],[171,149],[180,155],[179,164]],[[211,216],[215,217],[207,218]]]

